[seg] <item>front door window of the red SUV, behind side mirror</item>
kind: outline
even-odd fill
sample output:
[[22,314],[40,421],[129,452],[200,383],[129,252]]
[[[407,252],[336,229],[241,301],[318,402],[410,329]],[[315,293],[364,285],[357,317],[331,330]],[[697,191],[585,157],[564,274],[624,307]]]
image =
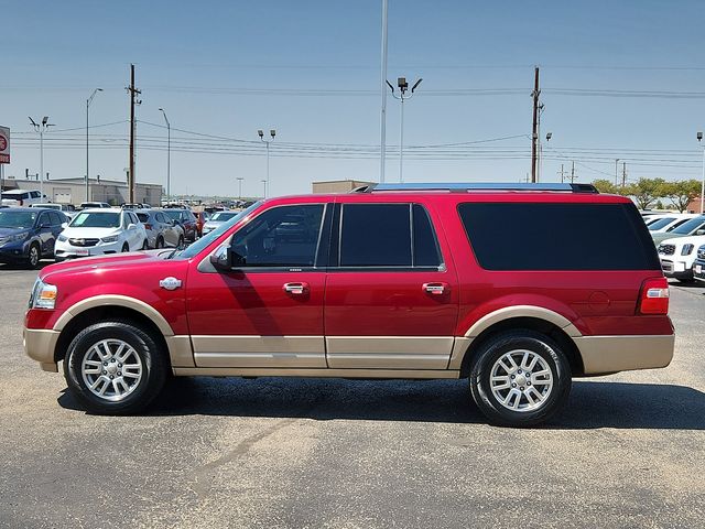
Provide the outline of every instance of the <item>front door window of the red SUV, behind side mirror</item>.
[[323,218],[323,204],[269,209],[239,229],[232,250],[240,267],[313,267]]

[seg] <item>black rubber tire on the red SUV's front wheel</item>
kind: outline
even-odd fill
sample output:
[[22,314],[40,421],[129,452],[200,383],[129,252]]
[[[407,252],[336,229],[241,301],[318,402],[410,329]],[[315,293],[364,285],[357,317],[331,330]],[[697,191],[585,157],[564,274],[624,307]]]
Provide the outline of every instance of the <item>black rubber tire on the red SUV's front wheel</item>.
[[[141,361],[141,378],[134,382],[133,389],[124,395],[121,400],[107,400],[107,398],[95,395],[82,375],[84,359],[90,354],[93,346],[104,339],[127,343]],[[107,363],[104,365],[107,365]],[[102,368],[100,367],[100,369]],[[69,391],[88,412],[97,414],[131,414],[143,410],[160,393],[167,374],[169,363],[166,355],[165,352],[161,350],[156,341],[142,328],[131,323],[119,321],[96,323],[78,333],[68,346],[64,361],[64,376]],[[129,381],[127,378],[124,380]],[[106,385],[111,384],[106,380]],[[116,381],[116,386],[117,384]],[[98,388],[101,387],[98,386]]]

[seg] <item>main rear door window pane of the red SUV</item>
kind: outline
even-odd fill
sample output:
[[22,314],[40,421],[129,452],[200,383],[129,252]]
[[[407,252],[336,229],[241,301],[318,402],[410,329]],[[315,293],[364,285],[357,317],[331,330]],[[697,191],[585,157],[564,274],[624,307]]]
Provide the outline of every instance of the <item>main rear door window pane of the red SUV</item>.
[[411,267],[409,204],[345,204],[341,267]]

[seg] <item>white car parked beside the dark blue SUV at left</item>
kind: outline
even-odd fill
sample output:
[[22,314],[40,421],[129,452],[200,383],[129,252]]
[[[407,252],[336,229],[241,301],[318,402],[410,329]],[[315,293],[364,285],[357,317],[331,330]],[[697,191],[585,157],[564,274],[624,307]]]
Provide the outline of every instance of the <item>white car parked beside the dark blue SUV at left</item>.
[[147,231],[133,212],[84,209],[56,239],[57,261],[147,249]]

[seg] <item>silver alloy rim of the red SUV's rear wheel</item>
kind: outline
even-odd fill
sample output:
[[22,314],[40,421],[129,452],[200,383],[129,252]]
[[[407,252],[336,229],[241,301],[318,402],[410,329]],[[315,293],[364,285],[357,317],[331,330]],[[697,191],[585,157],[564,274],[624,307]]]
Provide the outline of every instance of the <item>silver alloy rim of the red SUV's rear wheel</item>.
[[542,356],[525,349],[510,350],[492,366],[490,388],[497,401],[508,410],[534,411],[551,395],[553,374]]

